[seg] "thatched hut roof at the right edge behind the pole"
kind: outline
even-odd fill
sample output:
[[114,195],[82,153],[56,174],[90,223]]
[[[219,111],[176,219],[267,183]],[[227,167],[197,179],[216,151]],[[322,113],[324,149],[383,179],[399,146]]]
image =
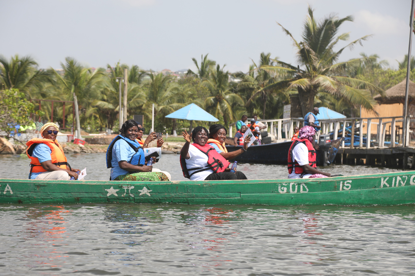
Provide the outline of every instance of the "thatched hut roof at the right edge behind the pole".
[[[379,104],[405,103],[406,79],[385,91],[385,96],[376,95]],[[408,104],[415,103],[415,83],[409,80]]]

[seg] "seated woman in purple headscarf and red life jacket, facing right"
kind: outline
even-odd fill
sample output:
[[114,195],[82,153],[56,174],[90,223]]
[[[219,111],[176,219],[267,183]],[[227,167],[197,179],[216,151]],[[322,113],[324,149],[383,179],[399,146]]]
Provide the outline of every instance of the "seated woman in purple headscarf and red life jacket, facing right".
[[330,177],[330,173],[317,170],[316,151],[312,146],[315,129],[306,125],[298,132],[288,150],[288,178],[322,178]]

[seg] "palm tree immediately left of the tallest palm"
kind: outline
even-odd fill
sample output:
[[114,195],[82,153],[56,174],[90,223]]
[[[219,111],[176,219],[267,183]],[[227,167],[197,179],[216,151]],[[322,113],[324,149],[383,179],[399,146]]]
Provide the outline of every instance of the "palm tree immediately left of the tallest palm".
[[288,95],[281,89],[280,84],[276,85],[278,80],[282,80],[281,74],[271,75],[267,70],[261,68],[262,66],[273,66],[274,62],[271,60],[271,53],[261,53],[259,65],[254,64],[250,66],[249,73],[239,73],[238,76],[242,77],[242,82],[237,86],[239,90],[248,91],[249,99],[246,106],[249,106],[251,101],[255,99],[259,100],[262,118],[266,118],[266,104],[271,103],[277,96],[283,96],[283,100],[288,101]]

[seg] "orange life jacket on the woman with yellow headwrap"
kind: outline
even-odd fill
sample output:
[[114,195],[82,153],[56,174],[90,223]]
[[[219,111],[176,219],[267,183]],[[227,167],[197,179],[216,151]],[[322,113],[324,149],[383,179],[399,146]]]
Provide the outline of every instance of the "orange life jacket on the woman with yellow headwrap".
[[61,145],[58,143],[58,141],[54,142],[50,139],[33,138],[27,141],[26,143],[26,146],[27,146],[26,154],[27,154],[27,157],[31,159],[30,165],[29,165],[30,166],[29,179],[32,173],[43,173],[47,171],[42,167],[42,165],[39,162],[39,159],[32,156],[34,147],[37,144],[45,144],[46,146],[49,146],[49,148],[52,151],[51,161],[54,165],[58,166],[59,168],[71,170],[71,166],[69,166],[67,162],[68,160],[66,160],[66,156],[63,153],[63,149]]

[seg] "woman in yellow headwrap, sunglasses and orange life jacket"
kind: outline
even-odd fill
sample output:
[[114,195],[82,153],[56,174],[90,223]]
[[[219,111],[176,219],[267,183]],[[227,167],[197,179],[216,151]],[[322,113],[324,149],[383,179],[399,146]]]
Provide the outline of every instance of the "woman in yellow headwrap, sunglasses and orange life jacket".
[[69,180],[78,179],[78,169],[69,166],[61,145],[56,141],[59,127],[53,122],[44,124],[40,130],[43,138],[29,140],[26,154],[31,159],[29,179]]

